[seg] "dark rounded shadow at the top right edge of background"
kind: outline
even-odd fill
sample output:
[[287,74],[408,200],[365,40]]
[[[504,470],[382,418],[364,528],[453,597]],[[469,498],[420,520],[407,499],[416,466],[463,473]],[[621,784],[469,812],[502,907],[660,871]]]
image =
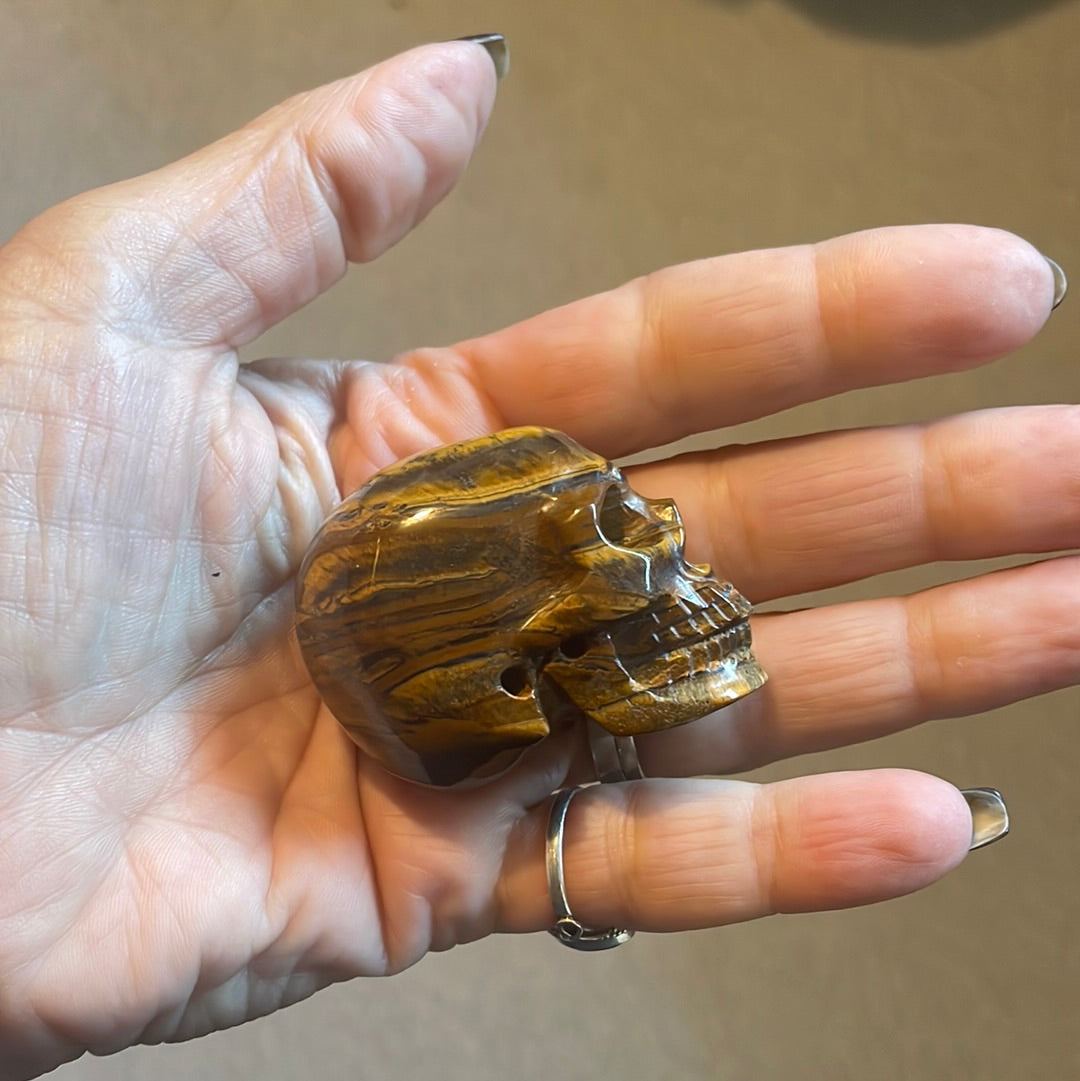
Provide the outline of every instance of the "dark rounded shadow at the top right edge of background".
[[[730,8],[754,0],[711,0]],[[867,38],[945,42],[990,34],[1068,0],[786,0],[816,23]]]

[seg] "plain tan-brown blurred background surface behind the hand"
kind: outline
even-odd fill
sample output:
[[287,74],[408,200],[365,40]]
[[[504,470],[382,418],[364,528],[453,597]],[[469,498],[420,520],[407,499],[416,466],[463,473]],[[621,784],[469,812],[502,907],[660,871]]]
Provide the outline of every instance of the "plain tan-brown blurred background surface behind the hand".
[[[388,359],[666,264],[906,222],[1012,229],[1080,285],[1070,0],[0,0],[0,237],[291,93],[488,30],[509,38],[512,71],[465,182],[261,352]],[[1075,295],[987,370],[736,436],[1077,401],[1078,345]],[[917,896],[602,957],[546,935],[488,942],[54,1076],[1080,1078],[1078,706],[1059,693],[762,774],[901,765],[1001,788],[1012,837]]]

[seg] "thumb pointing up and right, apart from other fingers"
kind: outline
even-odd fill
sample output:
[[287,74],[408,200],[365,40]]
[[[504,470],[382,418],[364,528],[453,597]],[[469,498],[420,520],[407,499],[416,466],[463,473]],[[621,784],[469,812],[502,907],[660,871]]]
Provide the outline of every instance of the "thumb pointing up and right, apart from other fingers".
[[[232,348],[379,255],[453,187],[495,96],[492,55],[426,45],[299,94],[145,176],[77,197],[4,248],[35,304],[142,344]],[[492,58],[496,58],[493,65]]]

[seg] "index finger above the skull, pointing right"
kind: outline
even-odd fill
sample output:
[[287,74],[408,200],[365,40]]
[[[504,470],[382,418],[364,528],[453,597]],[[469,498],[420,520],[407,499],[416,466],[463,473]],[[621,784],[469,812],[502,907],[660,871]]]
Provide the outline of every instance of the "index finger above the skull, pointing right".
[[1029,341],[1048,261],[998,229],[904,226],[670,267],[457,346],[505,423],[609,457]]

